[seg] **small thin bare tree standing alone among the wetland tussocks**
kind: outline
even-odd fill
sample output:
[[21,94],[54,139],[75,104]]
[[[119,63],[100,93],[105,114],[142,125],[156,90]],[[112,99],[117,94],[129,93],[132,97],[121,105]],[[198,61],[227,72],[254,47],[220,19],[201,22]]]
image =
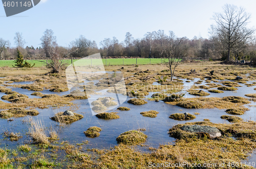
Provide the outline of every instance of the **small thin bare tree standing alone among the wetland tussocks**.
[[183,38],[169,37],[168,45],[165,48],[166,58],[164,63],[166,67],[170,70],[170,81],[173,81],[174,72],[176,67],[179,66],[182,58],[186,55],[183,45]]

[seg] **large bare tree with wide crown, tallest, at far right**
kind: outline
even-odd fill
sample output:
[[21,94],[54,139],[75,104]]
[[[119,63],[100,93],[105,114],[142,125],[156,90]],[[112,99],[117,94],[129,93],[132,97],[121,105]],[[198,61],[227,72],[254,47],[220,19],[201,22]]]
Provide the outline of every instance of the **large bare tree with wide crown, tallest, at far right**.
[[236,46],[241,46],[239,43],[249,43],[254,30],[247,28],[250,14],[247,14],[244,8],[226,4],[223,10],[224,13],[215,13],[213,18],[217,23],[215,29],[218,38],[227,50],[229,61],[230,51]]

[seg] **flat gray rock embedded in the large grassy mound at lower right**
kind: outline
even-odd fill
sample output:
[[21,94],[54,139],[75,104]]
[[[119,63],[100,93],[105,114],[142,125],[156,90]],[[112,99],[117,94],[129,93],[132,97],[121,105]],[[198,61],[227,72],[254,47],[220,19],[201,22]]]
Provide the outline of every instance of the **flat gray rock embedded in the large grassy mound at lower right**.
[[188,125],[188,126],[183,126],[181,130],[188,131],[191,133],[200,133],[200,132],[208,133],[210,135],[210,138],[216,138],[221,136],[221,131],[219,129],[217,129],[216,127],[210,127],[210,126]]

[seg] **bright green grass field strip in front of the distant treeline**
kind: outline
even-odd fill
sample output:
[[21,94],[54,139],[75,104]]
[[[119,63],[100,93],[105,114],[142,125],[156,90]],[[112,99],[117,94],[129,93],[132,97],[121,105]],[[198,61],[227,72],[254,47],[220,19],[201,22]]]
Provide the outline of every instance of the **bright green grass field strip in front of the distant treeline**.
[[[46,63],[40,62],[37,60],[27,60],[27,62],[34,64],[35,67],[42,67],[46,66]],[[99,64],[104,64],[104,65],[135,65],[136,64],[136,59],[81,59],[81,60],[73,60],[74,64],[76,66],[82,66],[82,65],[99,65]],[[71,64],[71,59],[65,60],[66,64]],[[144,58],[138,58],[137,59],[137,64],[157,64],[161,63],[161,59],[144,59]],[[164,59],[162,59],[162,63],[164,63]],[[0,60],[0,67],[8,66],[8,67],[13,67],[12,65],[15,65],[14,60]]]

